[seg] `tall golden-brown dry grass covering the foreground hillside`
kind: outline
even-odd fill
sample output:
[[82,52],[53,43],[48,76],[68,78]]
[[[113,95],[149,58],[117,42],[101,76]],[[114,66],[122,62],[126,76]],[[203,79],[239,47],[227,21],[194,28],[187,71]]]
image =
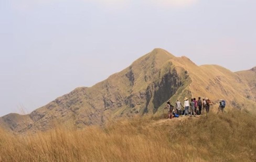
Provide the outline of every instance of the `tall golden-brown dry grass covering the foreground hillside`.
[[156,124],[150,117],[106,128],[0,132],[0,161],[256,161],[256,118],[226,114]]

